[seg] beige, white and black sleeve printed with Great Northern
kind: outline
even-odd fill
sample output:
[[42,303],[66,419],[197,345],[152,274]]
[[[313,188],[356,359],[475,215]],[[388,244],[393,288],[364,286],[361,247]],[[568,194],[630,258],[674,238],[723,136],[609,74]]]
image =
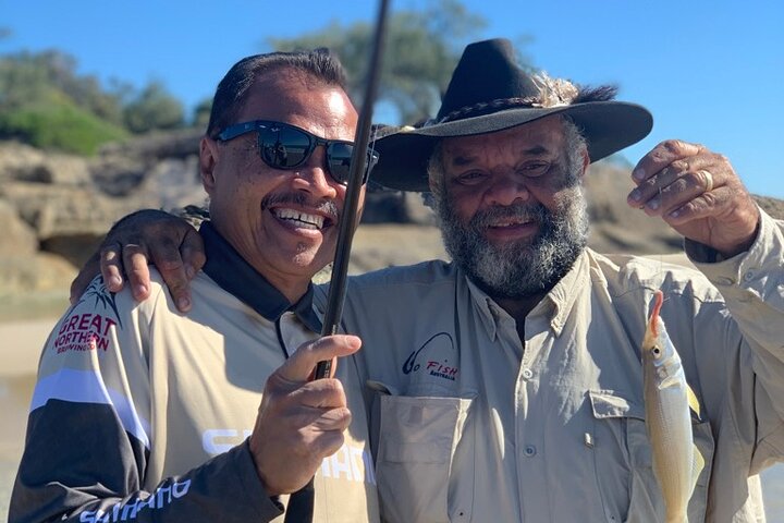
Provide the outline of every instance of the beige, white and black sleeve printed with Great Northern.
[[98,277],[50,335],[9,521],[264,522],[282,514],[247,441],[144,490],[155,430],[138,307]]

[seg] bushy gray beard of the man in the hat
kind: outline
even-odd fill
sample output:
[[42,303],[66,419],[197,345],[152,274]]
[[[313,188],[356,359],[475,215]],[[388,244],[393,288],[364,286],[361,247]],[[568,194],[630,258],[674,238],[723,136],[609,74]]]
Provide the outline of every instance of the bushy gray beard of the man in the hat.
[[[588,242],[588,210],[579,185],[569,190],[553,212],[539,203],[493,206],[478,211],[465,226],[449,196],[442,194],[434,200],[446,252],[493,299],[523,299],[549,291]],[[493,245],[483,231],[499,218],[510,217],[538,223],[539,232],[529,240]]]

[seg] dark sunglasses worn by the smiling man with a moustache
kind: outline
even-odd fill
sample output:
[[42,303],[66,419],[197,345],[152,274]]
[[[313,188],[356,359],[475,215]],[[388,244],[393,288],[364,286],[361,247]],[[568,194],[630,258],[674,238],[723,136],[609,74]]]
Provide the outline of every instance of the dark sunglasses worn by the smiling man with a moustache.
[[[273,169],[296,169],[305,163],[316,147],[327,148],[327,171],[340,184],[348,183],[353,142],[324,139],[304,129],[283,122],[255,120],[253,122],[230,125],[218,134],[218,139],[229,142],[253,131],[258,131],[259,156],[265,163]],[[368,150],[367,168],[363,174],[363,183],[367,182],[370,169],[378,162],[379,155]]]

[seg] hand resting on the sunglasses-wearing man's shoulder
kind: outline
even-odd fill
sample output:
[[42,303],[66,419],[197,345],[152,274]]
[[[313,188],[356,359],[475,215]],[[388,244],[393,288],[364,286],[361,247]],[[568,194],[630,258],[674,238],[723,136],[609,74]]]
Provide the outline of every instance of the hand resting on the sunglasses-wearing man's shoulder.
[[136,300],[149,297],[149,265],[155,265],[181,312],[191,308],[189,281],[205,264],[201,236],[187,221],[162,210],[145,209],[118,221],[98,252],[71,283],[71,303],[99,273],[107,289],[122,290],[127,279]]

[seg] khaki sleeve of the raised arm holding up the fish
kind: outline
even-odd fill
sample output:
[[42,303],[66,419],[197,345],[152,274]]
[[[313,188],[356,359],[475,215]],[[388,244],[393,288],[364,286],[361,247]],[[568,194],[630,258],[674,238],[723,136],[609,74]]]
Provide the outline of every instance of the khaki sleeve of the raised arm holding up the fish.
[[784,460],[784,221],[762,211],[757,240],[747,253],[703,263],[712,258],[708,251],[686,244],[691,262],[724,297],[739,331],[742,350],[727,368],[742,377],[730,382],[727,398],[735,430],[754,446],[750,471],[758,473]]

